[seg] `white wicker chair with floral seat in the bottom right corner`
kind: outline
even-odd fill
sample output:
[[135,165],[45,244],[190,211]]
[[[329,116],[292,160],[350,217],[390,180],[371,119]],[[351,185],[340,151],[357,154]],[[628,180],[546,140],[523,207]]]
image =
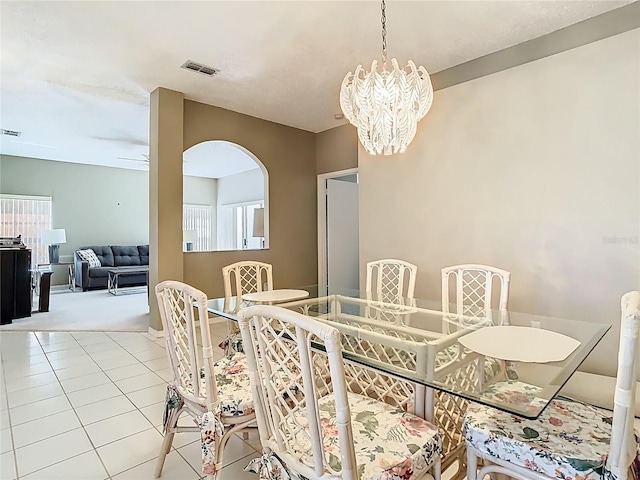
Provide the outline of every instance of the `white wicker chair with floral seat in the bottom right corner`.
[[[640,293],[622,297],[622,324],[613,415],[556,398],[537,420],[474,404],[465,417],[467,479],[502,473],[525,480],[626,480],[640,473],[633,432],[638,373]],[[477,472],[478,459],[488,464]],[[632,477],[633,478],[633,477]]]

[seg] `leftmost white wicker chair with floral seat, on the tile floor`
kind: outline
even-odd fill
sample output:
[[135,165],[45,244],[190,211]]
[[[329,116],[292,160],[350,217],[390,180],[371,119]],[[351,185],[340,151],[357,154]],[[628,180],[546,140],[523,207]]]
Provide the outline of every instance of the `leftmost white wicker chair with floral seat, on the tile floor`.
[[[184,283],[164,281],[156,286],[156,297],[174,378],[167,387],[164,440],[155,476],[162,474],[174,434],[199,431],[203,473],[212,480],[222,468],[230,436],[256,426],[246,357],[235,354],[214,364],[204,293]],[[179,426],[183,412],[198,426]]]

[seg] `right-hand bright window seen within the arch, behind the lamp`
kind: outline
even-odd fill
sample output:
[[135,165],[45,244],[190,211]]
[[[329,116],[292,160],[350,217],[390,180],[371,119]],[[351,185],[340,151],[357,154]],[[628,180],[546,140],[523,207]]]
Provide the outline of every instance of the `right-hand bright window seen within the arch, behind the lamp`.
[[220,208],[218,213],[218,248],[220,250],[263,248],[264,232],[254,232],[255,212],[259,208],[262,208],[262,203],[225,205]]

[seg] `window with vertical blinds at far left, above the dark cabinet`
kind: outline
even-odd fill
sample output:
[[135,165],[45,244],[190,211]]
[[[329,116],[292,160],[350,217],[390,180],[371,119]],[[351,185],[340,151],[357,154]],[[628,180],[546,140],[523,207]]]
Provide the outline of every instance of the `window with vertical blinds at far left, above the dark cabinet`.
[[40,241],[43,230],[51,230],[51,197],[0,195],[0,237],[21,235],[34,265],[49,261],[47,245]]

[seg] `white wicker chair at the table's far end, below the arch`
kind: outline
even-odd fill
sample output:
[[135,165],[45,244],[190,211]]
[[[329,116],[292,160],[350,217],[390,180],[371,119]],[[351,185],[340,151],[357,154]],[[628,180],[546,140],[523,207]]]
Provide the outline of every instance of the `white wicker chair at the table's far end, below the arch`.
[[[265,289],[273,290],[273,268],[268,263],[252,260],[232,263],[222,267],[222,278],[225,299],[234,296],[242,297],[245,293],[262,292]],[[239,304],[240,302],[236,302],[236,306]],[[227,338],[220,345],[225,355],[241,352],[242,344],[238,324],[228,320],[227,330]]]

